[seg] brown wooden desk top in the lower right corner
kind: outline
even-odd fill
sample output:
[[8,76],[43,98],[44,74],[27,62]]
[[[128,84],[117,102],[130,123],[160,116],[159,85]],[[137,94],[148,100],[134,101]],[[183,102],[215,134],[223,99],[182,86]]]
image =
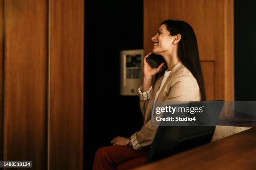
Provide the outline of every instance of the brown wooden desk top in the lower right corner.
[[136,170],[256,170],[256,127]]

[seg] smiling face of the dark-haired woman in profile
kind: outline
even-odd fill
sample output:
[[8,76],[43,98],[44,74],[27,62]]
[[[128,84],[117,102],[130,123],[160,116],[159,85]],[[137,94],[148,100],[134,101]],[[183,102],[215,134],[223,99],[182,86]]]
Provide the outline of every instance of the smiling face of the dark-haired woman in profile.
[[172,53],[174,50],[174,45],[172,43],[174,42],[175,37],[175,35],[170,35],[165,24],[161,25],[157,34],[151,38],[154,46],[152,52],[158,55]]

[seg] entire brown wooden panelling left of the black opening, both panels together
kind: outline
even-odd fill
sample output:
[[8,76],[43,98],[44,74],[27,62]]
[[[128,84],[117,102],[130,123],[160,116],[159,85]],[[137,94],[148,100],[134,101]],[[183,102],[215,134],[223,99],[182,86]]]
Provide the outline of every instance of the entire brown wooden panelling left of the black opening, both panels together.
[[83,63],[83,0],[0,0],[1,161],[82,170]]

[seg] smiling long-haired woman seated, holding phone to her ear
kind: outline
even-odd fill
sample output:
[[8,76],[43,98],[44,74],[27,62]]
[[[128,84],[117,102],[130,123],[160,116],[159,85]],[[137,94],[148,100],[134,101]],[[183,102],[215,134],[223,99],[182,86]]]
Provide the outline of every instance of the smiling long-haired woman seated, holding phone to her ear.
[[151,106],[156,100],[206,100],[193,28],[184,21],[165,20],[151,40],[152,52],[164,57],[168,69],[161,69],[164,63],[156,69],[148,64],[146,58],[152,52],[144,57],[143,85],[138,89],[144,125],[131,138],[116,137],[111,141],[113,146],[97,150],[94,170],[130,169],[145,163],[158,128],[151,125]]

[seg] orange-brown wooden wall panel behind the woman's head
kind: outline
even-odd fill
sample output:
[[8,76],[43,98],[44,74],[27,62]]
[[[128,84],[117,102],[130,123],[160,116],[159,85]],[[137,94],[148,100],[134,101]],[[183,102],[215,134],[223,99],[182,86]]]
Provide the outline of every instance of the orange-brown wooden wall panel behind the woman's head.
[[234,100],[233,0],[144,0],[143,5],[144,53],[152,50],[151,37],[162,21],[186,21],[197,35],[200,60],[215,62],[215,100]]

